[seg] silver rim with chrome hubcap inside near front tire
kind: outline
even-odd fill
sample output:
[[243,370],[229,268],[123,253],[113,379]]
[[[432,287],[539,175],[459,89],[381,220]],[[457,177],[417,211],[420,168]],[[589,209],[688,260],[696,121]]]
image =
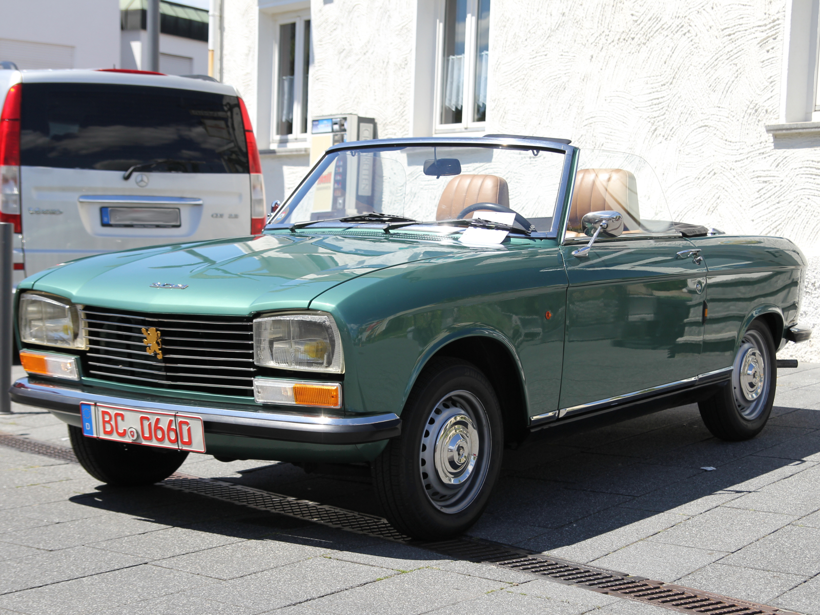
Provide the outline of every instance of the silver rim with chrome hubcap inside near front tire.
[[427,417],[419,471],[427,498],[442,512],[476,499],[487,473],[490,437],[485,409],[469,391],[446,395]]

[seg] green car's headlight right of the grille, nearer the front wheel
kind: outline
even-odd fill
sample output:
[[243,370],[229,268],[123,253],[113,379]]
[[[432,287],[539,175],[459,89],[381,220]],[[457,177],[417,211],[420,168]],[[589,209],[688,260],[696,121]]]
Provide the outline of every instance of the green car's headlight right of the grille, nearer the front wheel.
[[342,342],[327,312],[288,312],[253,321],[257,365],[286,370],[344,371]]

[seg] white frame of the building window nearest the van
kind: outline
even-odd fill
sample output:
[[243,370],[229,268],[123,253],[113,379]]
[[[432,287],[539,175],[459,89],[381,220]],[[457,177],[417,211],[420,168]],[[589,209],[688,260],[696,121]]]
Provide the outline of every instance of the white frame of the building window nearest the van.
[[[310,133],[310,91],[307,92],[307,108],[302,108],[302,91],[304,76],[302,75],[302,58],[305,52],[305,21],[310,20],[310,11],[292,11],[276,15],[273,23],[273,79],[271,82],[271,145],[287,144],[291,141],[306,141]],[[280,66],[280,26],[296,24],[296,45],[294,49],[294,132],[279,134],[279,66]],[[312,26],[311,26],[312,30]],[[309,50],[308,50],[309,52]],[[310,58],[308,67],[311,65]],[[309,68],[308,68],[309,71]],[[307,132],[297,132],[301,129],[302,120],[306,119]]]

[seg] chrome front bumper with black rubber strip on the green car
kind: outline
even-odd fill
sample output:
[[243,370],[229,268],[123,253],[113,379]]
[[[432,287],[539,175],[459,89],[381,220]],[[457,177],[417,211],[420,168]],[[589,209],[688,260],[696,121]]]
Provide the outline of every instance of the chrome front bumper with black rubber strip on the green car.
[[80,402],[107,403],[127,408],[183,412],[202,417],[205,434],[241,435],[265,440],[286,440],[311,444],[365,444],[401,434],[402,420],[393,412],[365,417],[321,417],[288,412],[248,411],[203,405],[166,403],[153,397],[116,397],[89,393],[45,382],[17,380],[11,400],[39,408],[71,425],[80,426]]

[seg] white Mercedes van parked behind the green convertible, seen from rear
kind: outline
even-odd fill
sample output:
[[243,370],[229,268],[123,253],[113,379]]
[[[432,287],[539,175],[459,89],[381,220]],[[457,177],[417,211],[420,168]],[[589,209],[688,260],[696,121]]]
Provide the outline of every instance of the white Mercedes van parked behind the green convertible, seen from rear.
[[259,153],[230,85],[0,71],[0,105],[0,221],[16,227],[15,286],[91,254],[262,231]]

